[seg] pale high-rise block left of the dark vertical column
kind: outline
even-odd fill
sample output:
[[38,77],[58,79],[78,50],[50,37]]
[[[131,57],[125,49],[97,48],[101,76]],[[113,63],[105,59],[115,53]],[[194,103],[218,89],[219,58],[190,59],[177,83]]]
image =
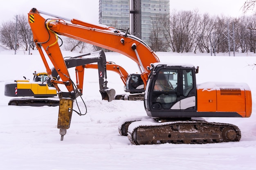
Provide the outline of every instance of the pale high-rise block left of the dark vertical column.
[[99,24],[130,28],[130,0],[99,0]]

